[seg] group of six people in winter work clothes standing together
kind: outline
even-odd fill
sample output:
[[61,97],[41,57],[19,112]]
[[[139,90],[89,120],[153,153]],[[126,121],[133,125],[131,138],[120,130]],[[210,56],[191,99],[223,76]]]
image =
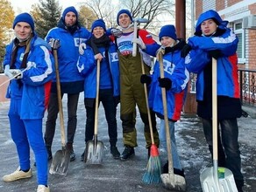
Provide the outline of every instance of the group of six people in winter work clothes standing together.
[[[181,117],[186,98],[189,72],[197,73],[197,113],[203,122],[203,131],[212,154],[212,100],[211,58],[217,59],[217,108],[218,108],[218,159],[219,166],[230,168],[238,191],[241,192],[244,178],[241,174],[241,159],[238,146],[238,123],[241,105],[238,92],[237,55],[238,38],[227,28],[215,10],[204,12],[197,20],[195,36],[185,40],[177,38],[175,27],[161,27],[158,45],[146,30],[136,31],[129,10],[117,13],[118,35],[108,32],[103,19],[97,19],[88,31],[78,22],[75,7],[62,13],[57,27],[48,31],[46,38],[39,38],[34,31],[34,22],[28,13],[19,14],[13,22],[16,38],[6,46],[4,73],[11,78],[7,97],[11,98],[9,120],[11,138],[18,151],[19,167],[4,182],[32,176],[30,147],[35,154],[38,170],[37,191],[50,191],[47,184],[47,161],[53,158],[52,144],[56,119],[59,113],[51,45],[60,40],[58,63],[61,96],[68,94],[68,142],[70,161],[75,161],[73,148],[77,124],[77,105],[80,93],[84,92],[86,109],[85,143],[93,139],[96,111],[96,68],[100,62],[99,101],[102,102],[108,123],[110,153],[115,159],[126,161],[135,155],[138,146],[136,131],[136,106],[144,123],[148,156],[152,145],[167,148],[161,90],[166,89],[167,119],[172,143],[174,174],[185,178],[184,169],[176,148],[174,125]],[[132,46],[138,46],[132,56]],[[157,60],[151,71],[151,56]],[[145,72],[142,71],[143,62]],[[160,63],[164,74],[160,75]],[[149,90],[148,103],[153,125],[150,134],[144,84]],[[123,127],[124,151],[117,148],[117,105],[120,102],[120,119]],[[229,107],[227,107],[229,106]],[[46,132],[42,133],[42,120],[47,110]],[[156,127],[160,118],[160,131]],[[81,156],[84,160],[84,153]],[[168,172],[168,162],[162,168]]]

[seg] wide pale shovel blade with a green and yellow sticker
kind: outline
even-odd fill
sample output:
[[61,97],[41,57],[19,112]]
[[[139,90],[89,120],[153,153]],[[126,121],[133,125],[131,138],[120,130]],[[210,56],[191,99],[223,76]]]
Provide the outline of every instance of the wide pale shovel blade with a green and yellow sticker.
[[218,168],[218,181],[214,177],[213,171],[213,168],[206,168],[200,175],[203,192],[238,192],[230,169]]

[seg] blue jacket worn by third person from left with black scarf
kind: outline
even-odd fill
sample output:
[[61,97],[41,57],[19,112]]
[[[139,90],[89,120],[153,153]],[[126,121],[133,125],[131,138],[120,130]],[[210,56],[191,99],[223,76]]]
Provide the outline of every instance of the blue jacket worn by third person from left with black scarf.
[[[98,48],[104,58],[105,52],[103,47]],[[108,62],[110,66],[111,80],[113,85],[113,96],[120,95],[120,79],[119,79],[119,61],[117,56],[117,46],[110,43],[108,50],[109,61],[103,59],[104,62]],[[103,62],[102,61],[102,62]],[[93,50],[87,45],[87,49],[84,50],[84,54],[80,55],[77,62],[78,71],[81,72],[84,80],[84,98],[96,98],[96,60],[94,58]]]

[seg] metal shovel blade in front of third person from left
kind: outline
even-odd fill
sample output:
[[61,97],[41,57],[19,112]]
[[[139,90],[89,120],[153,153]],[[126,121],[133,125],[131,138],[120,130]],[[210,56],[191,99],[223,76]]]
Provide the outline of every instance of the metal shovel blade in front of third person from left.
[[84,154],[84,161],[87,164],[102,164],[103,162],[103,141],[87,141]]

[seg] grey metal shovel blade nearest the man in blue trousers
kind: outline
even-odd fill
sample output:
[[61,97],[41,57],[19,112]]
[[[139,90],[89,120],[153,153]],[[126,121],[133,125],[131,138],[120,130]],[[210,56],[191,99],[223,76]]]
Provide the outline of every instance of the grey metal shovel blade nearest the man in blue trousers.
[[53,161],[49,170],[52,175],[67,175],[68,164],[70,161],[70,151],[62,149],[56,151],[53,156]]

